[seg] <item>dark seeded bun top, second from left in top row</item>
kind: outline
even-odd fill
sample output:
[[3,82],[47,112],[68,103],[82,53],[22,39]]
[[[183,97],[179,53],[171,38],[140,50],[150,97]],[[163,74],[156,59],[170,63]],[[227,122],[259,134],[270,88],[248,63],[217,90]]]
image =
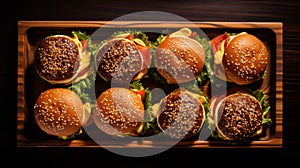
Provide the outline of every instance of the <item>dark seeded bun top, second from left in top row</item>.
[[105,42],[96,56],[98,74],[106,81],[130,82],[143,70],[143,56],[136,44],[126,38]]

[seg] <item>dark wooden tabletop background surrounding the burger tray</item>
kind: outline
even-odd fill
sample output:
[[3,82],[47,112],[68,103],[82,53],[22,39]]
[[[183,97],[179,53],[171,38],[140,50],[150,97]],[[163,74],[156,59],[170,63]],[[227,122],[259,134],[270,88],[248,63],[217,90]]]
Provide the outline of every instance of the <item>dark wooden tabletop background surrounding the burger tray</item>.
[[[105,149],[16,147],[17,21],[18,20],[113,20],[139,11],[169,12],[190,21],[258,21],[283,23],[283,148],[281,149],[170,149],[145,158],[129,158]],[[297,1],[220,0],[52,0],[6,1],[1,11],[1,160],[26,166],[85,165],[103,167],[154,167],[213,165],[287,165],[300,159],[300,4]],[[10,105],[11,104],[11,105]],[[9,105],[9,106],[8,106]],[[6,121],[6,122],[3,122]],[[9,147],[9,148],[7,148]],[[7,158],[7,159],[6,159]],[[300,160],[299,160],[300,161]],[[3,163],[4,164],[4,163]],[[110,166],[111,165],[111,166]]]

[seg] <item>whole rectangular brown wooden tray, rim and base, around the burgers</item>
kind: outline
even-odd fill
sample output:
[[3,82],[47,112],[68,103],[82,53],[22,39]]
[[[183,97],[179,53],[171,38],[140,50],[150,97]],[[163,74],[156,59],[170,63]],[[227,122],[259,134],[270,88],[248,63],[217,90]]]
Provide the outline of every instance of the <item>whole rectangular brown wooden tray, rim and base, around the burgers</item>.
[[[100,27],[124,29],[174,29],[181,27],[198,27],[209,38],[224,32],[249,32],[267,39],[271,52],[271,73],[268,80],[270,99],[270,117],[272,124],[265,135],[250,145],[234,145],[238,148],[281,148],[282,147],[282,23],[280,22],[166,22],[166,21],[19,21],[18,23],[18,111],[17,111],[17,146],[18,147],[143,147],[156,148],[168,146],[169,142],[153,143],[149,141],[128,141],[126,146],[118,143],[104,142],[98,145],[88,136],[71,141],[60,141],[43,135],[37,129],[32,119],[34,100],[42,90],[49,87],[33,73],[33,48],[38,40],[47,34],[69,33],[72,30],[82,30],[92,33]],[[122,143],[124,144],[124,143]],[[209,140],[180,141],[174,147],[211,148],[229,147],[219,141]]]

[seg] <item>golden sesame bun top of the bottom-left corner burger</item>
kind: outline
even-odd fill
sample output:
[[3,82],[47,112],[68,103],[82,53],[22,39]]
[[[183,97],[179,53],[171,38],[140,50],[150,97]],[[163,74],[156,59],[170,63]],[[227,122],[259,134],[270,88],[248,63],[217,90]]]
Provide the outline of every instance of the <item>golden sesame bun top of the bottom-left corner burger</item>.
[[83,103],[72,90],[48,89],[36,100],[34,116],[37,125],[47,134],[68,136],[82,126]]

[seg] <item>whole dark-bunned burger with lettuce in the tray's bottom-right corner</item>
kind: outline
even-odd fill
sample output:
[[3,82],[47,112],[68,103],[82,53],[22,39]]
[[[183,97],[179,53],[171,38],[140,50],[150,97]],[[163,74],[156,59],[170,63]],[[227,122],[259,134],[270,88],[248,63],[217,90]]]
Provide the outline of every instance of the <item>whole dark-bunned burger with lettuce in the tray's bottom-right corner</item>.
[[212,97],[210,109],[212,135],[226,141],[252,140],[262,134],[264,124],[271,122],[266,118],[270,106],[262,90],[231,88],[226,94]]

